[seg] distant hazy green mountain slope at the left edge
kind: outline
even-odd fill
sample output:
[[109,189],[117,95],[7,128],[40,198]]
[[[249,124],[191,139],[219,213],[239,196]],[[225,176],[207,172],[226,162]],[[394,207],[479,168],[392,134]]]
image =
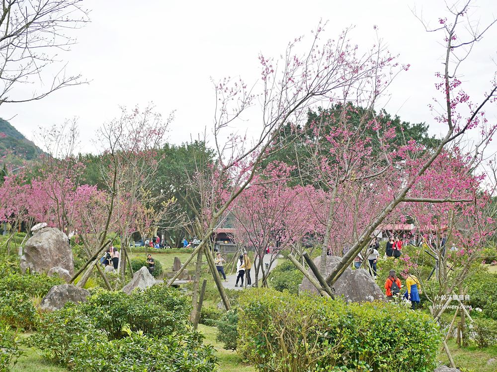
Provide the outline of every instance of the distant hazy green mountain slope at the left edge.
[[32,160],[43,151],[24,137],[9,122],[0,118],[0,163],[5,160],[18,163],[21,160]]

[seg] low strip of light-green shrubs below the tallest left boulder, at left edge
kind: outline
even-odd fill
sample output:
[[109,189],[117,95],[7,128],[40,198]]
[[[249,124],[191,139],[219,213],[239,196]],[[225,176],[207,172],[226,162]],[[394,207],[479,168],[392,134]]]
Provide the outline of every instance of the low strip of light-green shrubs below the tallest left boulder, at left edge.
[[0,277],[0,292],[22,292],[28,296],[45,296],[50,288],[55,285],[64,284],[59,277],[47,276],[46,274],[19,274],[14,273]]

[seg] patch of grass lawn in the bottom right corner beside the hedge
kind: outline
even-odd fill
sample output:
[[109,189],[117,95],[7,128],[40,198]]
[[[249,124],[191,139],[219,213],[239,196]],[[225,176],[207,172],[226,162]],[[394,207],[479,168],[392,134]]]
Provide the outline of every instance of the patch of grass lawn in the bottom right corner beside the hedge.
[[[497,363],[487,366],[487,361],[497,357],[497,346],[480,349],[478,346],[470,346],[467,348],[458,348],[455,340],[447,342],[454,363],[459,368],[467,369],[472,372],[496,372]],[[449,365],[447,354],[442,349],[438,352],[438,359]]]

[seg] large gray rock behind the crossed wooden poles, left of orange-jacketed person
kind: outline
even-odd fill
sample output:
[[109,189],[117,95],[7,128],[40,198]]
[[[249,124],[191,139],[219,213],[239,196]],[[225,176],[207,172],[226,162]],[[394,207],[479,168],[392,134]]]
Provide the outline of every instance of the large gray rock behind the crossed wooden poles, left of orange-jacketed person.
[[[340,261],[340,257],[328,256],[326,261],[326,275],[331,273],[332,269]],[[314,263],[319,268],[321,266],[321,257],[314,259]],[[314,277],[311,269],[308,272]],[[299,286],[301,291],[318,293],[318,290],[312,283],[304,277],[302,284]],[[336,296],[343,296],[347,302],[372,302],[374,300],[386,300],[383,291],[375,283],[371,275],[365,269],[351,270],[345,269],[344,273],[333,285]]]

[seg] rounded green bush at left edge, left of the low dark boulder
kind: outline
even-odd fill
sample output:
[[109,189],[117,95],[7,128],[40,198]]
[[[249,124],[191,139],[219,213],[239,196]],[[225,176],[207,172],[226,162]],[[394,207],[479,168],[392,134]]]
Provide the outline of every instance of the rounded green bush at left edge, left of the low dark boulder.
[[13,328],[30,330],[36,319],[33,301],[24,292],[0,291],[0,322]]

